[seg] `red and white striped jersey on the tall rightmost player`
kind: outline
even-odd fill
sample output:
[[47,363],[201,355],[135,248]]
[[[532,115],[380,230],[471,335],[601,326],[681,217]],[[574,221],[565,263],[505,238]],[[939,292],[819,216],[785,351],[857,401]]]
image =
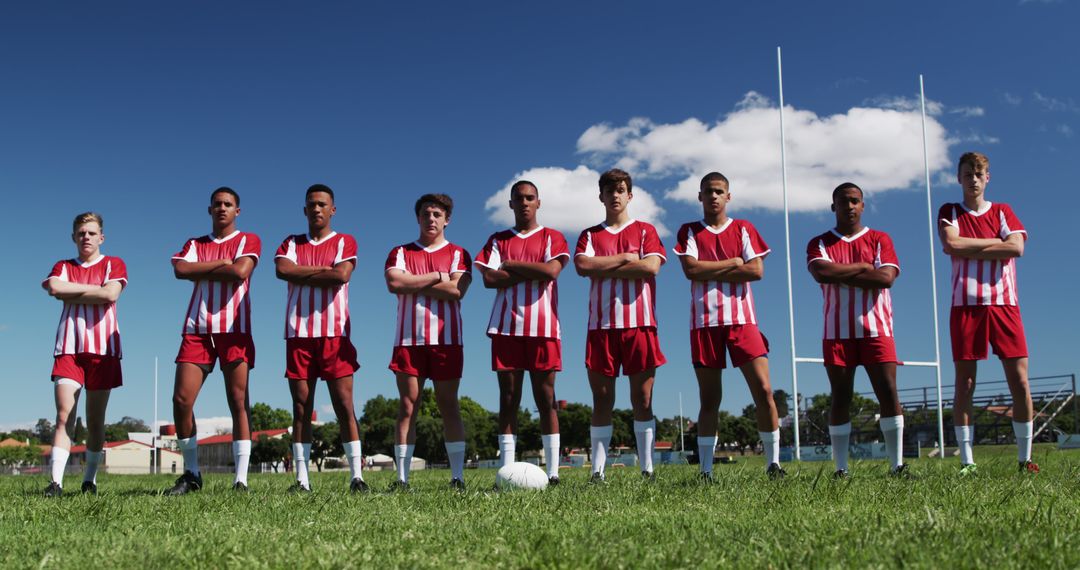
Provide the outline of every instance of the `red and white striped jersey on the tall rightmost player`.
[[[953,226],[961,238],[1004,240],[1027,230],[1008,204],[986,202],[982,212],[963,204],[945,204],[937,212],[939,223]],[[1018,304],[1016,258],[968,259],[953,256],[953,307]]]

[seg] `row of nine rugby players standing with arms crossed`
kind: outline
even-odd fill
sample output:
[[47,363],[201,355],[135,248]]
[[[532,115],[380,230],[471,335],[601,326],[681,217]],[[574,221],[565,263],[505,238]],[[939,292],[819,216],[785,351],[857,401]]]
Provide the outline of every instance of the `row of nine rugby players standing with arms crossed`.
[[[953,259],[950,332],[956,366],[954,424],[960,447],[960,473],[975,473],[972,457],[972,404],[977,362],[987,345],[1001,359],[1013,396],[1013,429],[1021,471],[1037,473],[1031,462],[1032,408],[1027,383],[1027,347],[1016,298],[1016,262],[1027,232],[1005,204],[986,200],[989,161],[977,152],[960,157],[957,178],[962,200],[941,206],[939,232]],[[514,461],[517,410],[525,372],[539,411],[550,484],[558,483],[559,435],[554,407],[555,375],[562,369],[558,285],[572,260],[589,277],[589,331],[585,368],[593,393],[592,480],[604,480],[612,433],[616,378],[630,379],[634,433],[642,475],[653,477],[656,420],[652,388],[666,358],[657,336],[656,276],[666,250],[656,228],[627,213],[631,176],[604,173],[598,182],[604,221],[581,232],[571,256],[562,233],[539,223],[540,189],[515,182],[509,206],[514,227],[492,234],[475,261],[446,240],[454,212],[446,194],[416,201],[419,239],[394,247],[386,262],[389,291],[397,297],[396,332],[390,369],[396,376],[400,407],[395,426],[395,489],[407,489],[416,442],[419,397],[428,379],[443,420],[450,487],[464,489],[464,426],[458,408],[462,376],[460,301],[475,266],[484,286],[497,291],[487,332],[491,369],[500,391],[499,449],[503,464]],[[728,217],[728,179],[710,173],[698,198],[702,219],[679,228],[674,253],[690,281],[690,352],[701,408],[698,447],[701,477],[712,480],[720,374],[730,358],[750,386],[769,477],[782,477],[780,429],[769,381],[768,342],[757,327],[751,283],[761,279],[769,246],[752,223]],[[824,299],[822,352],[833,398],[829,436],[835,477],[848,476],[850,404],[854,375],[865,368],[880,404],[890,474],[910,476],[903,463],[904,418],[896,396],[896,351],[889,289],[900,261],[886,232],[863,226],[863,191],[843,182],[833,191],[836,226],[810,240],[807,268],[821,284]],[[325,381],[341,430],[350,467],[349,488],[366,491],[360,433],[353,409],[353,375],[359,369],[350,341],[349,281],[356,241],[332,229],[334,191],[324,185],[305,194],[308,232],[288,236],[274,254],[279,279],[288,283],[285,318],[286,371],[293,397],[293,457],[296,483],[308,492],[315,385]],[[194,402],[215,363],[220,362],[232,413],[233,489],[247,490],[252,442],[247,379],[255,366],[248,287],[261,243],[237,228],[240,195],[230,188],[211,194],[213,232],[188,240],[173,256],[177,279],[193,284],[176,356],[173,413],[185,473],[166,492],[202,488],[195,438]],[[80,214],[72,225],[78,257],[58,261],[42,283],[63,301],[52,370],[56,401],[49,497],[63,493],[82,389],[86,389],[87,452],[83,492],[96,492],[103,458],[105,411],[111,389],[122,383],[117,300],[127,284],[123,261],[100,253],[102,216]]]

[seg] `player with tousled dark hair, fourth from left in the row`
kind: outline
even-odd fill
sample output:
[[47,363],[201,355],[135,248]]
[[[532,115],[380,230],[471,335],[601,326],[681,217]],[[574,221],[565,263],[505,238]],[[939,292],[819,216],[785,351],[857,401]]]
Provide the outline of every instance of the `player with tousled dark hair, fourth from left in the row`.
[[450,488],[463,491],[465,429],[458,404],[464,366],[461,299],[472,280],[472,260],[462,247],[446,241],[445,229],[454,213],[450,196],[423,194],[414,212],[420,238],[391,249],[386,264],[387,289],[397,296],[397,328],[390,361],[400,395],[394,437],[397,480],[393,487],[408,488],[420,394],[430,378],[443,417]]

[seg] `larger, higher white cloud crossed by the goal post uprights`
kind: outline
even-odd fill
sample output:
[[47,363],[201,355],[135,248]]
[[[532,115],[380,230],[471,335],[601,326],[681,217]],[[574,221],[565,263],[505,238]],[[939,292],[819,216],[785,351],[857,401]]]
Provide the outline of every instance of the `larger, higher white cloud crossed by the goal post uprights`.
[[[793,211],[827,207],[833,188],[845,180],[868,193],[905,189],[923,177],[920,112],[909,101],[856,107],[819,117],[785,107],[788,203]],[[902,110],[902,109],[903,110]],[[676,177],[665,196],[697,202],[702,175],[718,169],[731,180],[733,209],[781,209],[783,193],[777,108],[755,93],[715,124],[687,119],[653,124],[635,119],[626,126],[596,125],[578,140],[593,161],[615,163],[645,177]],[[589,132],[586,132],[589,133]],[[945,128],[927,119],[932,171],[948,165]],[[594,141],[600,140],[603,145]]]

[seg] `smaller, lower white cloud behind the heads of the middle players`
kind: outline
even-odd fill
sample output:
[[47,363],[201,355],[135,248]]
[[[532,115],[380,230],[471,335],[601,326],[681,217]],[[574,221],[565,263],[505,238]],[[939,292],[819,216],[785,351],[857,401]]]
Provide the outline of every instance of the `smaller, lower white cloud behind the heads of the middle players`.
[[[638,128],[627,124],[622,127],[623,131],[612,135],[603,127],[604,125],[591,127],[581,138],[584,139],[588,135],[590,144],[613,149],[622,136],[636,136],[634,128]],[[644,130],[644,125],[639,128]],[[540,189],[540,212],[537,215],[540,223],[566,232],[567,240],[572,242],[578,232],[604,220],[604,206],[597,198],[599,191],[596,182],[599,177],[599,172],[584,165],[572,171],[557,166],[529,168],[515,174],[499,191],[491,194],[484,203],[484,209],[492,222],[504,227],[513,226],[514,214],[508,205],[510,187],[516,180],[531,180]],[[654,225],[660,235],[671,234],[661,221],[664,208],[637,180],[634,181],[634,199],[629,211],[635,219]]]

